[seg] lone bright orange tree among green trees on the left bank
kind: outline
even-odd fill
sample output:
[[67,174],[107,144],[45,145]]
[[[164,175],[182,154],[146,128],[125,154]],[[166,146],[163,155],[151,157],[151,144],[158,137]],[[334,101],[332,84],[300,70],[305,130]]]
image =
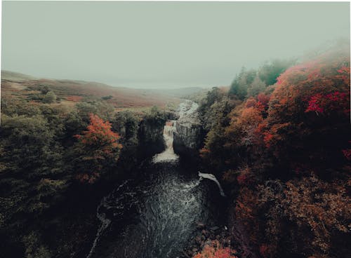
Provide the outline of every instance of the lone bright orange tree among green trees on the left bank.
[[78,139],[77,179],[91,184],[104,172],[102,169],[106,170],[117,162],[122,146],[119,144],[120,136],[112,132],[110,122],[104,122],[94,114],[89,117],[87,130],[74,137]]

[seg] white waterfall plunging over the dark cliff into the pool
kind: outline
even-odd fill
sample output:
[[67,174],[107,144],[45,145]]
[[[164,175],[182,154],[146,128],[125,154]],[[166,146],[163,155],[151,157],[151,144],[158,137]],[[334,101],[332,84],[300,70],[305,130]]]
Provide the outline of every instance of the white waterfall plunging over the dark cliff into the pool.
[[176,130],[176,121],[166,121],[164,125],[164,141],[166,142],[166,149],[160,154],[156,154],[152,161],[154,163],[177,161],[178,155],[173,151],[173,132]]

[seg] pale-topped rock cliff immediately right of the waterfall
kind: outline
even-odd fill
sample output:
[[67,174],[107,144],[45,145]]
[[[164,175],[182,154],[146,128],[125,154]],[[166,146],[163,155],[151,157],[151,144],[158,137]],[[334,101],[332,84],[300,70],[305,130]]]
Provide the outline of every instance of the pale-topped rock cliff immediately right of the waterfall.
[[173,149],[180,156],[197,156],[203,140],[203,130],[197,112],[198,105],[187,101],[180,118],[176,121],[176,132],[173,134]]

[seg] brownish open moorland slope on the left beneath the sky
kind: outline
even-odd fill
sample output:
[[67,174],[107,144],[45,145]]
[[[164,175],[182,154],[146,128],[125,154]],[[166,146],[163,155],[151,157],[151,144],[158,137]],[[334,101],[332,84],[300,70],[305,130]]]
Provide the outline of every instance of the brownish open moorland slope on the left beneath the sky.
[[17,72],[1,71],[1,97],[26,97],[44,86],[62,101],[77,102],[84,98],[102,98],[116,108],[153,105],[161,107],[168,102],[178,102],[176,94],[163,93],[163,90],[112,87],[91,81],[38,79]]

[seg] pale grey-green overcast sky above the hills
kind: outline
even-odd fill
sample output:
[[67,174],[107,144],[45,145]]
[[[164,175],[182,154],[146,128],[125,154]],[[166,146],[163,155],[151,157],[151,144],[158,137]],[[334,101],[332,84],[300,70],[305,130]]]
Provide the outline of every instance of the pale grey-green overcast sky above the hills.
[[1,69],[134,88],[230,85],[350,39],[349,3],[3,1]]

